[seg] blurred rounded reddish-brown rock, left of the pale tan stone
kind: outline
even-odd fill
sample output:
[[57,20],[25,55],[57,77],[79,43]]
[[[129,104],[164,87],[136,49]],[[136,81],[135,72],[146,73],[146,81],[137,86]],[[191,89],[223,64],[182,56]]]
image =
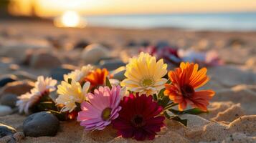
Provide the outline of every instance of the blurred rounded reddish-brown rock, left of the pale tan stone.
[[60,59],[48,51],[36,51],[31,57],[29,65],[36,68],[52,68],[55,66],[60,66]]

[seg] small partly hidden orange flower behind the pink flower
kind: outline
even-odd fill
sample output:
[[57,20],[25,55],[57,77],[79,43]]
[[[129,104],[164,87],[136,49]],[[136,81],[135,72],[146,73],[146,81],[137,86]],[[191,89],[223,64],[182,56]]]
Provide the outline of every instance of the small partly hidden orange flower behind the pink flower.
[[91,71],[87,77],[85,77],[85,82],[90,82],[90,89],[94,89],[95,87],[104,85],[107,76],[107,69],[95,69],[94,71]]

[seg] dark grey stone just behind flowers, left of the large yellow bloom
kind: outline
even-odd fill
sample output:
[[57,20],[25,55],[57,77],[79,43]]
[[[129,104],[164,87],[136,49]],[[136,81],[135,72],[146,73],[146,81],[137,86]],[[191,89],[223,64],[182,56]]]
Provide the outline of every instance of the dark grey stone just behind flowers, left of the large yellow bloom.
[[123,61],[118,60],[118,59],[110,59],[110,60],[103,60],[100,61],[100,68],[106,68],[109,71],[112,71],[114,69],[117,69],[120,66],[125,66],[125,63]]

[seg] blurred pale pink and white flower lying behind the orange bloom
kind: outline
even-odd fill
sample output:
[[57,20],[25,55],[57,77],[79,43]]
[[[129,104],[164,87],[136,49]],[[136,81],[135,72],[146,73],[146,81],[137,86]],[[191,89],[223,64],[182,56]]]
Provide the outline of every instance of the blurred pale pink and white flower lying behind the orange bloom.
[[196,62],[204,66],[219,66],[224,64],[216,51],[198,52],[193,50],[180,50],[179,56],[183,61]]

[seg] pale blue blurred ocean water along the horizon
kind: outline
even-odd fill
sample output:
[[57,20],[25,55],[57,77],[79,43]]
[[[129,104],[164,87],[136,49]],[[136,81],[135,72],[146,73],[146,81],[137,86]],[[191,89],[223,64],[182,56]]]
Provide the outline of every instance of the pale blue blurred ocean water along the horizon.
[[89,26],[127,29],[174,27],[195,30],[256,31],[256,12],[217,14],[133,14],[85,16]]

